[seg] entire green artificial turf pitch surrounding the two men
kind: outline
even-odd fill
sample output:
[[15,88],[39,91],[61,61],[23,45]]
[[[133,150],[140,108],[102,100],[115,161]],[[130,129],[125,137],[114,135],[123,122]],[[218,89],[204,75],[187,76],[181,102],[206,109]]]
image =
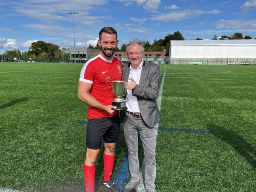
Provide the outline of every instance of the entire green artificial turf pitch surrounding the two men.
[[[87,106],[77,97],[81,68],[0,62],[0,188],[85,191]],[[156,190],[256,191],[256,66],[160,68]],[[107,191],[101,186],[102,152],[97,192]],[[126,152],[121,126],[113,179]],[[139,156],[142,163],[142,147]]]

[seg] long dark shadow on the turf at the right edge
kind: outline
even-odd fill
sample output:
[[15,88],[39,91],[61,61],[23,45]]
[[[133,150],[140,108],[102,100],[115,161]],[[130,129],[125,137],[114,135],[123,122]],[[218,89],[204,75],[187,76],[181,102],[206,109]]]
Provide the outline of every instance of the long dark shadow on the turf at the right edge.
[[256,149],[244,140],[242,136],[215,124],[208,124],[208,130],[214,131],[216,137],[232,146],[253,168],[256,168]]

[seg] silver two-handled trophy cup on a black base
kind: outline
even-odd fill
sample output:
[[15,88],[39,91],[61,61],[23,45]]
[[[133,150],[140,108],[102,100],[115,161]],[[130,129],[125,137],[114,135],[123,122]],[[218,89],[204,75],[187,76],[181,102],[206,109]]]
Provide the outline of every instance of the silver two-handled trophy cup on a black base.
[[[108,83],[112,82],[112,88],[108,86]],[[108,88],[110,88],[115,96],[114,100],[112,100],[112,105],[117,108],[112,110],[121,111],[126,110],[126,100],[123,98],[126,94],[128,81],[109,81],[109,77],[106,78],[106,84]]]

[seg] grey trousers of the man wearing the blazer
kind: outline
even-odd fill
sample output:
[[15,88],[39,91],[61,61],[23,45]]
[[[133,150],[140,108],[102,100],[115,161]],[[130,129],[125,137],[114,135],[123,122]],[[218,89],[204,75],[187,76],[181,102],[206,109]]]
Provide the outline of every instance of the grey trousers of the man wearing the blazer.
[[145,163],[145,187],[147,191],[155,189],[156,152],[154,128],[148,127],[142,118],[137,118],[124,112],[124,136],[128,148],[129,170],[133,181],[140,180],[138,158],[138,131],[143,144]]

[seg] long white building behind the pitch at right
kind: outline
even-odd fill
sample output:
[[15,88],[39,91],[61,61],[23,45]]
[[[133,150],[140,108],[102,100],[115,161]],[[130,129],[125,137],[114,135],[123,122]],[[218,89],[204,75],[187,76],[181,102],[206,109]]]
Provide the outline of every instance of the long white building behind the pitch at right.
[[169,56],[170,64],[189,61],[228,64],[249,60],[256,64],[256,40],[171,40]]

